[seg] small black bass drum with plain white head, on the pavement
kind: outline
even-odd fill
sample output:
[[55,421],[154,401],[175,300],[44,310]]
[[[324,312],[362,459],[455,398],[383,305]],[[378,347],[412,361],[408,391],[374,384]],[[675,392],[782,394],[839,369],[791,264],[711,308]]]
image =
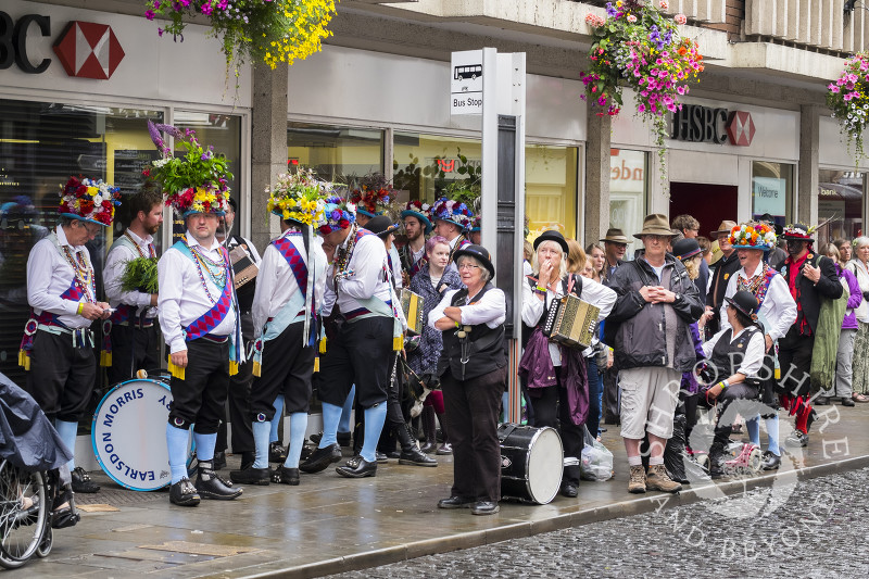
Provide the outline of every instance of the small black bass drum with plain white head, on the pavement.
[[504,424],[501,441],[501,495],[545,505],[562,486],[564,448],[554,428]]

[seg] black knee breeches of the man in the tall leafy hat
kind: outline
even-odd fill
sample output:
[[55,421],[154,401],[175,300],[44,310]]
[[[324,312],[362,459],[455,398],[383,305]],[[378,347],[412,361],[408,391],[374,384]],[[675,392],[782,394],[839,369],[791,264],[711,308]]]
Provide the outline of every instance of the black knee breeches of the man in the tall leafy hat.
[[214,435],[224,416],[229,388],[229,340],[215,343],[206,338],[187,342],[185,379],[172,377],[169,424],[193,431]]

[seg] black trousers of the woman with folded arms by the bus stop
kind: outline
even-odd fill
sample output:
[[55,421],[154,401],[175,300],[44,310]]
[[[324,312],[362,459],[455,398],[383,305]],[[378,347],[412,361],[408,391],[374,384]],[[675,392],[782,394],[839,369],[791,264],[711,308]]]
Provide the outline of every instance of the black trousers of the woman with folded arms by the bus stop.
[[498,417],[506,381],[506,366],[469,380],[456,380],[449,369],[441,376],[444,414],[453,444],[452,495],[501,500]]

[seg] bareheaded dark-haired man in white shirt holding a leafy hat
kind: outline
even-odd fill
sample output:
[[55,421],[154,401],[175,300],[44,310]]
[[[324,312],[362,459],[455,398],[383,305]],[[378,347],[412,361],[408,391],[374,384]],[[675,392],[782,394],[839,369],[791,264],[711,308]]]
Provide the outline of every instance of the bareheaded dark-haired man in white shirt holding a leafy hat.
[[131,379],[139,368],[160,367],[160,336],[154,326],[158,294],[124,291],[122,279],[127,262],[156,259],[153,236],[163,223],[163,198],[153,189],[143,189],[130,199],[130,210],[133,221],[109,250],[102,274],[105,297],[115,309],[103,322],[103,335],[111,342],[106,368],[111,385]]

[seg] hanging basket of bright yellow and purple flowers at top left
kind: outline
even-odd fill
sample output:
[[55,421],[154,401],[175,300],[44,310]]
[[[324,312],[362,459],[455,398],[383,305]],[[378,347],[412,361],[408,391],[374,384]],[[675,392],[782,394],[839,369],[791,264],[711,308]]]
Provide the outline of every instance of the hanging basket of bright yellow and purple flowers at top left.
[[144,16],[169,21],[158,34],[184,40],[184,18],[204,15],[223,40],[227,66],[264,62],[292,64],[320,50],[336,0],[148,0]]

